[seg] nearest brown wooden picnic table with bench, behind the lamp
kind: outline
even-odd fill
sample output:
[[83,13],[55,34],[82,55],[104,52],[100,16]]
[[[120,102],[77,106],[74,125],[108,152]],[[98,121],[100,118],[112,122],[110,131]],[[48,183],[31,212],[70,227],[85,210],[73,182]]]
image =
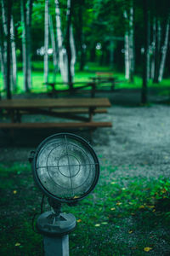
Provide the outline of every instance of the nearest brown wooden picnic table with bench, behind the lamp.
[[[110,122],[94,122],[94,113],[105,113],[111,107],[107,98],[58,98],[58,99],[12,99],[0,101],[0,110],[10,116],[11,123],[1,123],[0,128],[80,128],[111,127]],[[59,118],[81,120],[81,123],[21,123],[23,114],[43,114]],[[88,113],[88,117],[81,113]]]

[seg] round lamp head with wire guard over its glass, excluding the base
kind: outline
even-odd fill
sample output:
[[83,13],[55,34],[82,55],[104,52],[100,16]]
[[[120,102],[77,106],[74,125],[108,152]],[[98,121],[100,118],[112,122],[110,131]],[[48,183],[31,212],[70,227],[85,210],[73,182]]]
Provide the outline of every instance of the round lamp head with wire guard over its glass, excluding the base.
[[99,160],[82,137],[59,133],[38,146],[32,168],[42,192],[60,202],[79,201],[95,187]]

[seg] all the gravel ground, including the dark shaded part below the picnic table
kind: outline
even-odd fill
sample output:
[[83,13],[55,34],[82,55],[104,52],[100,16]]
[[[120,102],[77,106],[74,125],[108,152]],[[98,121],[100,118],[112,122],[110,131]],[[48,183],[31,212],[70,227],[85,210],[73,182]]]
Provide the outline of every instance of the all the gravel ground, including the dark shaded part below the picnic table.
[[[123,96],[116,94],[114,102],[117,104],[122,99],[128,104],[133,99],[133,106],[113,104],[108,114],[94,116],[96,121],[111,121],[113,124],[112,128],[100,128],[93,133],[92,145],[99,154],[101,164],[119,166],[114,172],[116,177],[169,176],[170,107],[160,104],[134,107],[139,102],[139,94]],[[25,119],[30,118],[43,122],[51,120],[38,115]],[[0,131],[0,161],[27,161],[30,151],[50,134],[44,131],[41,134],[39,131],[16,133],[14,145],[11,145],[8,134]],[[89,139],[87,132],[78,134]]]

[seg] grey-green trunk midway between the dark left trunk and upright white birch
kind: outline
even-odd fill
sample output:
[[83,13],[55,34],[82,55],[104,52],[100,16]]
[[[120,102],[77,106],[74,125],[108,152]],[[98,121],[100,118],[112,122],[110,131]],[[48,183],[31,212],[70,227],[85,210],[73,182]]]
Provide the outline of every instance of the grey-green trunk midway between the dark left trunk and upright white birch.
[[23,73],[24,73],[24,87],[26,91],[29,91],[28,84],[28,61],[26,50],[26,1],[20,0],[20,12],[22,22],[22,61],[23,61]]

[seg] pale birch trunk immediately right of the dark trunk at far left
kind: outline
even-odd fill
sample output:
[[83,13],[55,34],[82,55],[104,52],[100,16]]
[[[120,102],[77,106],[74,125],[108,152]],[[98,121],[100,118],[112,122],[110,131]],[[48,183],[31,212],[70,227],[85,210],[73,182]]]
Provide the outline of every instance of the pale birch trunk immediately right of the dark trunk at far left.
[[17,90],[17,65],[16,65],[16,47],[14,41],[14,20],[11,16],[11,49],[12,49],[12,82],[13,90]]

